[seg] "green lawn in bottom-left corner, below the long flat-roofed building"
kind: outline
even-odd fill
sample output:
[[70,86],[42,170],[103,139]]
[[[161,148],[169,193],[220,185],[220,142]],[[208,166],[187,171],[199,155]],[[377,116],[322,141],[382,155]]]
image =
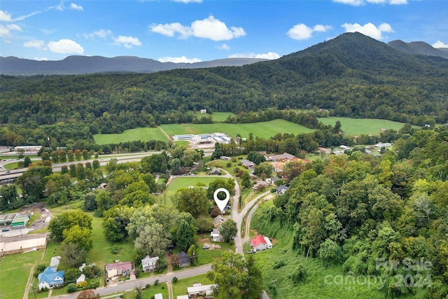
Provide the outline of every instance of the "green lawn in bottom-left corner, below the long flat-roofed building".
[[0,298],[23,298],[31,267],[36,268],[41,255],[39,250],[0,258]]

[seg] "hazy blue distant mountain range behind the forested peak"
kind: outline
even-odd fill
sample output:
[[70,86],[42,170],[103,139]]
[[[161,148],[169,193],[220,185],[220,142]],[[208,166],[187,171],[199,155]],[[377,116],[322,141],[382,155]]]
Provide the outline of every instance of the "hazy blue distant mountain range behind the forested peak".
[[[438,56],[448,59],[447,49],[436,49],[423,41],[405,43],[391,41],[388,46],[411,55]],[[311,47],[312,48],[312,47]],[[226,58],[195,63],[158,62],[134,56],[102,57],[73,55],[59,61],[36,61],[18,57],[0,57],[0,74],[10,76],[78,75],[107,72],[153,73],[171,69],[198,69],[209,67],[240,67],[265,61],[259,58]]]

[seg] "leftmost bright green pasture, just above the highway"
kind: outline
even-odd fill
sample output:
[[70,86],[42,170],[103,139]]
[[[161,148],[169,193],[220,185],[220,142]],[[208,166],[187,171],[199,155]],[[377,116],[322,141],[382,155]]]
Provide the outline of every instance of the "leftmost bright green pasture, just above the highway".
[[134,140],[168,142],[168,137],[158,127],[138,127],[137,129],[125,130],[121,134],[94,134],[93,138],[97,144],[118,144],[119,142]]

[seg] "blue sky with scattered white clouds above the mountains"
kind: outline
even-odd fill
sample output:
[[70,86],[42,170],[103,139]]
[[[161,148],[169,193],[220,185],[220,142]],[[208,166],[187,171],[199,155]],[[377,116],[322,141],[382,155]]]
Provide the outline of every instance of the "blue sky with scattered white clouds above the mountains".
[[2,0],[0,55],[275,59],[353,31],[448,48],[447,16],[446,0]]

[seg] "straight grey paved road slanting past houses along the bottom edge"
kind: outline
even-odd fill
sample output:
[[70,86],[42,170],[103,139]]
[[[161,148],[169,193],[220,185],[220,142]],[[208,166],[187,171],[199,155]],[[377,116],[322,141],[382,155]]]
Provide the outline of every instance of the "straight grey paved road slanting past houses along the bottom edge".
[[[99,293],[100,296],[109,295],[113,293],[122,293],[125,291],[132,291],[134,288],[141,288],[142,286],[146,286],[146,284],[154,284],[154,281],[158,280],[160,283],[164,283],[167,281],[172,281],[173,277],[177,277],[178,279],[193,277],[197,275],[202,275],[211,270],[211,265],[203,265],[200,267],[194,267],[186,270],[176,271],[176,272],[170,272],[167,274],[161,274],[161,275],[154,275],[153,277],[144,278],[144,279],[137,279],[133,281],[125,281],[121,284],[115,285],[115,286],[106,286],[102,288],[97,288],[94,290],[95,293]],[[79,293],[72,293],[72,294],[64,294],[59,296],[51,297],[53,299],[55,298],[64,298],[64,299],[76,299],[78,297]]]

